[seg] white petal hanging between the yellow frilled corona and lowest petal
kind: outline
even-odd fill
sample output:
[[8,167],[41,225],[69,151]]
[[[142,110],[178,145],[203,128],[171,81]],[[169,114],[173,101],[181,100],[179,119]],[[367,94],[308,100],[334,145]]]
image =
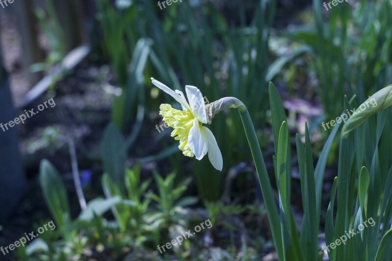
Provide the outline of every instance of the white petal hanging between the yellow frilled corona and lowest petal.
[[189,131],[188,144],[197,160],[201,160],[208,151],[208,142],[204,139],[199,126],[199,121],[195,118],[193,126]]

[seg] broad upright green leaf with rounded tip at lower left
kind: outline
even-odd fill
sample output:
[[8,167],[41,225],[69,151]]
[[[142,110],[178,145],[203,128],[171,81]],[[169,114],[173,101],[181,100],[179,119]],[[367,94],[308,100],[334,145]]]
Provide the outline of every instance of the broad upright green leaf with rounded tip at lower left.
[[60,174],[48,160],[41,161],[39,181],[55,223],[60,227],[65,227],[66,220],[64,215],[71,216],[67,190]]

